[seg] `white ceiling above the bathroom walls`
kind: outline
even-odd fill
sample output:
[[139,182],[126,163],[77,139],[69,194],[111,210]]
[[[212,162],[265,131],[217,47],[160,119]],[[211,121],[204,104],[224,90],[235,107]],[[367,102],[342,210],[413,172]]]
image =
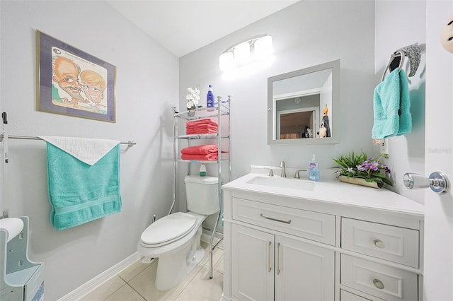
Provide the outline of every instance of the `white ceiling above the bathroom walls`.
[[299,0],[108,0],[176,55],[200,49]]

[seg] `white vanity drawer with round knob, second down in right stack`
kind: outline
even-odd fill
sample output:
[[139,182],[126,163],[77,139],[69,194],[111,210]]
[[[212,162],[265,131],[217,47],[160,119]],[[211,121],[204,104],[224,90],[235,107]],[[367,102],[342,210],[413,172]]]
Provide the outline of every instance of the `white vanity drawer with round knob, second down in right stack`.
[[340,283],[384,300],[418,300],[418,276],[341,254]]

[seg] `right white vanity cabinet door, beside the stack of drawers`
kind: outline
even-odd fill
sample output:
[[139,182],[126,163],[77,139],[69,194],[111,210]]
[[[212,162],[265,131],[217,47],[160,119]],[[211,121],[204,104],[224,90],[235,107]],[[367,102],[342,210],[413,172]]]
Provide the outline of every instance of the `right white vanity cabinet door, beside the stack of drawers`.
[[275,300],[333,300],[335,252],[275,237]]

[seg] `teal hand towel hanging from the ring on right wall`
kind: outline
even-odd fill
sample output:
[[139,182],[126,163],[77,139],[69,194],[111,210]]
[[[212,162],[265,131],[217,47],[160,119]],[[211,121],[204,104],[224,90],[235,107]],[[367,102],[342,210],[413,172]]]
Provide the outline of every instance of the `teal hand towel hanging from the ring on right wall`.
[[406,73],[395,69],[374,89],[372,138],[384,139],[411,133],[410,107]]

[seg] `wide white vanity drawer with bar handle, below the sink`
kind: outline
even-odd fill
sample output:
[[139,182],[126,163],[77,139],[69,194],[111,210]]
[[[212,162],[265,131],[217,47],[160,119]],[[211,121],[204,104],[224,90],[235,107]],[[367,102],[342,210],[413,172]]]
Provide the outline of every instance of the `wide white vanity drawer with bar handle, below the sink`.
[[233,198],[233,219],[335,245],[335,216]]

